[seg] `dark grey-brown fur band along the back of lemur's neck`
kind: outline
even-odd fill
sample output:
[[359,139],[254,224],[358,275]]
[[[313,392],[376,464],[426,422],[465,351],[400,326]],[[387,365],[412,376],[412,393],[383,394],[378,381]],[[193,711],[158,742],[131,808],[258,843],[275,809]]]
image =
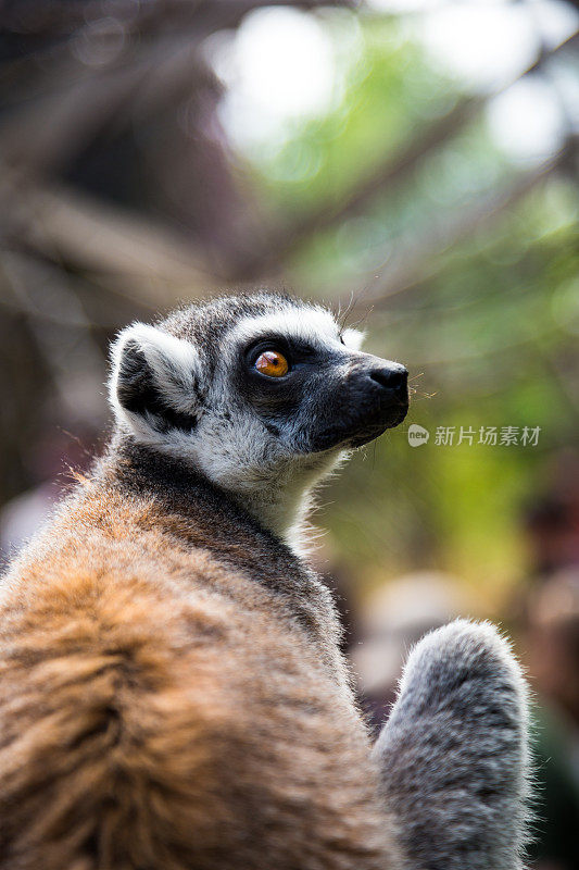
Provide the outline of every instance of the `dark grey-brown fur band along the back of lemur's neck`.
[[[79,498],[92,497],[91,484],[119,490],[123,498],[133,495],[139,522],[154,524],[187,547],[209,550],[222,564],[274,593],[319,645],[320,660],[332,676],[347,685],[338,652],[340,627],[328,588],[235,499],[176,459],[123,438],[113,440]],[[328,645],[328,638],[333,644]]]

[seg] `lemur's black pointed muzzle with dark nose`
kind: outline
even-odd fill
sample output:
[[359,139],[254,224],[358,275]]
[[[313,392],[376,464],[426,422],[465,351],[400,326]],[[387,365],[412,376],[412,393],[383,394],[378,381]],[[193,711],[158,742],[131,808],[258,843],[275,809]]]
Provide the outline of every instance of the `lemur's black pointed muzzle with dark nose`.
[[317,432],[318,450],[361,447],[402,423],[408,410],[408,372],[398,362],[356,353],[331,397],[332,413]]

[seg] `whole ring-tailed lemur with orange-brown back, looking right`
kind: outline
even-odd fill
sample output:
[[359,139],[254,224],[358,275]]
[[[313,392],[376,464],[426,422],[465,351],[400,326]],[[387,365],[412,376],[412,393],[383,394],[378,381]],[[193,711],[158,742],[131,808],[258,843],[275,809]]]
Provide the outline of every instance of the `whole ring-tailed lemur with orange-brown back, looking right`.
[[1,870],[516,870],[525,682],[488,623],[411,652],[373,746],[297,529],[404,366],[270,293],[135,323],[115,426],[3,577]]

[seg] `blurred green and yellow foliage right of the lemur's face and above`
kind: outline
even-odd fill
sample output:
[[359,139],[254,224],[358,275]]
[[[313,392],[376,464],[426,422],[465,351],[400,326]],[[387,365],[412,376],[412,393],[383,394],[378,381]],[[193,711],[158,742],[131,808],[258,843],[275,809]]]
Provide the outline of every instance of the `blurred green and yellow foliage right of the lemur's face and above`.
[[[385,153],[403,152],[465,97],[400,18],[364,22],[340,11],[326,24],[340,58],[339,98],[326,116],[293,123],[280,145],[252,154],[264,195],[286,213],[332,208]],[[420,253],[432,224],[451,220],[460,229],[462,210],[523,173],[480,113],[428,149],[404,184],[377,189],[363,214],[304,239],[290,283],[330,303],[351,287],[363,311],[407,237]],[[549,486],[553,457],[575,445],[579,422],[577,206],[576,182],[545,174],[464,238],[458,232],[428,249],[418,274],[386,302],[368,302],[367,348],[404,361],[416,394],[404,426],[367,447],[320,496],[315,520],[357,576],[436,566],[500,607],[527,570],[523,505]],[[404,250],[411,273],[413,250]],[[412,422],[429,430],[427,445],[408,445]],[[437,426],[473,426],[474,444],[436,445]],[[541,432],[534,447],[490,446],[477,444],[480,426]]]

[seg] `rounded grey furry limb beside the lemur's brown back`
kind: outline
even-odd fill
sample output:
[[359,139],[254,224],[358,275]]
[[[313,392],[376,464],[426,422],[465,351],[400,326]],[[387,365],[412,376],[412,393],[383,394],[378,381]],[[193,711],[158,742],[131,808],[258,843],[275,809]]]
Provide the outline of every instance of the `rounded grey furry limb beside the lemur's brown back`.
[[412,650],[374,748],[412,870],[520,870],[528,699],[511,646],[457,620]]

